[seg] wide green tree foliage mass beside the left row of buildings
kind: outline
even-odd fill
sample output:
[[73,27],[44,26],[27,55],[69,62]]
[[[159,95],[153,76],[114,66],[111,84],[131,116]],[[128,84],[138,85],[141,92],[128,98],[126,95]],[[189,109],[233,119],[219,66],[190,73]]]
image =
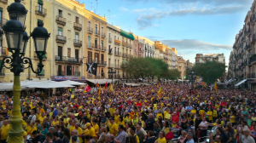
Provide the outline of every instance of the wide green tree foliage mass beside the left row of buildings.
[[154,58],[131,58],[121,66],[123,72],[131,78],[166,78],[177,79],[180,72],[177,69],[169,70],[168,64],[163,60]]

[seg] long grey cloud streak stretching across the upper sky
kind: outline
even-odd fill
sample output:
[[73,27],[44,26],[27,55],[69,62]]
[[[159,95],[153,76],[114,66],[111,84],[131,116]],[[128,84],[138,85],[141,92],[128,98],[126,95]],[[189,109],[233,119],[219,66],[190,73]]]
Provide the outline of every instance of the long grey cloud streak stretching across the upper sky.
[[139,17],[137,18],[137,24],[139,29],[143,30],[150,26],[155,26],[154,20],[169,16],[234,14],[243,9],[247,8],[243,5],[227,5],[215,7],[204,6],[201,8],[195,6],[167,11],[164,11],[163,9],[135,9],[133,12],[137,12],[139,14]]

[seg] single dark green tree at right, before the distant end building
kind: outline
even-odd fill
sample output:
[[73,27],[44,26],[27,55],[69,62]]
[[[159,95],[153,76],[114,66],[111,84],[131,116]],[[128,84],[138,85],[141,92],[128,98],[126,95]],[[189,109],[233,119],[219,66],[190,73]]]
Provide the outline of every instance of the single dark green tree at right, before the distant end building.
[[225,65],[217,61],[206,61],[195,66],[197,76],[202,77],[208,85],[214,83],[218,77],[222,77],[225,72]]

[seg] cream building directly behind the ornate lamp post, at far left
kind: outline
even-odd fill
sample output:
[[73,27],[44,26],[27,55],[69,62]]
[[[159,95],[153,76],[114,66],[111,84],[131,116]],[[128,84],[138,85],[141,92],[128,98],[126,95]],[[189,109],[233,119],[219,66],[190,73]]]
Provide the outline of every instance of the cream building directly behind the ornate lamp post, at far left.
[[[0,26],[3,26],[7,20],[9,20],[9,13],[7,11],[7,7],[10,3],[15,3],[14,0],[0,0]],[[32,1],[30,3],[30,0],[23,0],[21,3],[26,7],[28,10],[26,14],[26,32],[28,36],[33,31],[35,27],[38,26],[38,21],[44,22],[44,27],[51,33],[52,31],[52,4],[49,1],[46,0],[38,0],[38,1]],[[26,80],[26,79],[33,79],[33,78],[49,78],[51,74],[50,67],[52,65],[52,42],[53,37],[49,37],[48,40],[48,48],[47,48],[47,54],[44,56],[43,64],[44,64],[44,71],[40,72],[39,74],[35,74],[31,71],[31,69],[26,69],[21,75],[20,80]],[[10,55],[5,35],[3,37],[0,37],[0,64],[2,63],[3,57]],[[32,38],[27,43],[26,46],[26,57],[31,58],[33,69],[37,71],[38,67],[38,57],[35,53],[34,49],[34,43]],[[13,82],[14,74],[10,72],[8,69],[3,68],[3,70],[0,72],[0,82]]]

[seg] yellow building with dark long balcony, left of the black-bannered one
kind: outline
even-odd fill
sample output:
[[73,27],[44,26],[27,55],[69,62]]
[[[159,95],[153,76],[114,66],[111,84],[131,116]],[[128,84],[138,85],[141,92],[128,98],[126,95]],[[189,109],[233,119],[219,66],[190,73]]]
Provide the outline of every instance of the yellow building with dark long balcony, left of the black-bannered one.
[[[85,4],[73,0],[55,0],[52,3],[51,23],[53,76],[81,77],[84,72],[84,16]],[[53,78],[54,80],[55,78]]]

